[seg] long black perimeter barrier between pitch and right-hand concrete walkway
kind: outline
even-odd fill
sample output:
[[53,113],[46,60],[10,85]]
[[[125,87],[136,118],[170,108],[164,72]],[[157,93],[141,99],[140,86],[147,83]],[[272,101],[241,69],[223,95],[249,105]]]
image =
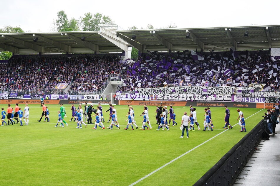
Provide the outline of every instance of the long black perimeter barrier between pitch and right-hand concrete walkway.
[[228,151],[194,185],[233,185],[261,141],[264,119]]

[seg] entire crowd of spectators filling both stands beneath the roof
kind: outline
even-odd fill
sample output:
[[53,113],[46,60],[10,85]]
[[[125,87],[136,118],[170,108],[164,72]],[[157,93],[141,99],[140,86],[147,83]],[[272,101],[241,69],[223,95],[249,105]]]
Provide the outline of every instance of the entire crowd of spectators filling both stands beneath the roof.
[[[270,91],[280,89],[280,70],[277,69],[280,62],[271,59],[267,53],[248,54],[234,60],[230,53],[224,56],[217,54],[216,57],[213,53],[207,54],[201,61],[194,61],[191,55],[185,56],[146,55],[138,58],[137,65],[120,63],[120,59],[113,55],[77,55],[71,58],[63,55],[14,56],[8,64],[0,65],[0,87],[2,91],[33,94],[44,90],[54,91],[58,83],[69,83],[71,92],[99,92],[107,85],[109,75],[122,75],[125,83],[125,86],[120,87],[122,91],[131,91],[135,87],[163,87],[166,84],[202,86],[204,80],[208,80],[211,86],[227,86],[233,85],[235,81],[244,81],[246,84],[268,84]],[[153,67],[148,62],[151,59]],[[179,69],[178,64],[183,70]],[[253,73],[256,64],[264,65],[264,68]],[[187,66],[189,72],[185,68]],[[272,66],[276,74],[269,75],[268,69],[272,69]],[[249,70],[244,71],[244,68]],[[231,75],[225,75],[221,71],[224,69],[231,69]],[[206,70],[212,71],[211,75]],[[190,77],[190,82],[186,81],[186,76]],[[229,77],[233,79],[232,84],[226,81]],[[234,86],[244,85],[237,83]]]

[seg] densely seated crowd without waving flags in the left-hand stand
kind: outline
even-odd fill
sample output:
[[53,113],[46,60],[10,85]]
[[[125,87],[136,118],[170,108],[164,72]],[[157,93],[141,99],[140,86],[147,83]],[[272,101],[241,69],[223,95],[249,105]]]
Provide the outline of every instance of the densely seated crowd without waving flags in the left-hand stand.
[[98,92],[110,74],[120,74],[118,62],[116,56],[14,56],[0,65],[0,86],[2,91],[38,94],[69,83],[72,92]]

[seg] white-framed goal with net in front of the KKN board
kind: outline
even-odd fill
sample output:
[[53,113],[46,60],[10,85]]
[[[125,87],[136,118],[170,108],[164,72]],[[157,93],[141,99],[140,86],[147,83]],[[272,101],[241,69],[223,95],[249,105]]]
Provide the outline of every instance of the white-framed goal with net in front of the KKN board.
[[112,104],[111,92],[78,92],[78,105],[87,102],[88,104]]

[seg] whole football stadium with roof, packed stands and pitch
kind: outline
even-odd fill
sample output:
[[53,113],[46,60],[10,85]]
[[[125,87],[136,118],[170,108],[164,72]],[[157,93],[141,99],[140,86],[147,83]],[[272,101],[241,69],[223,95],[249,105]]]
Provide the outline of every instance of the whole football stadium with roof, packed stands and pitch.
[[1,33],[0,51],[1,185],[279,185],[280,25]]

